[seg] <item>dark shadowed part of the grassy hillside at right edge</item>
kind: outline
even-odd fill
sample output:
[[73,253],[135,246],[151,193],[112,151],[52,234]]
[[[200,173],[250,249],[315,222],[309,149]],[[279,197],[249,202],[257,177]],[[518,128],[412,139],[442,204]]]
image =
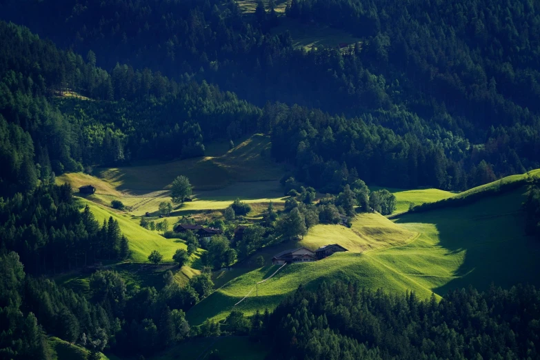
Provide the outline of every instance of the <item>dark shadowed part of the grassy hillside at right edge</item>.
[[396,221],[434,224],[439,232],[436,246],[448,251],[445,256],[465,252],[463,263],[452,274],[457,278],[434,292],[443,296],[470,285],[485,290],[491,283],[503,287],[540,284],[540,244],[525,235],[520,212],[523,192],[521,188],[468,206],[404,215]]

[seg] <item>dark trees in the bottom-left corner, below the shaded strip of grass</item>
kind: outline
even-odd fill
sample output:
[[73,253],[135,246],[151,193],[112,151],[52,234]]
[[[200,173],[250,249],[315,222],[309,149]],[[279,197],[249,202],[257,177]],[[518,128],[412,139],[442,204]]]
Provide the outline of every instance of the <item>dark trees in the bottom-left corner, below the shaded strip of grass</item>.
[[90,299],[37,279],[23,270],[15,252],[0,254],[0,349],[8,359],[52,359],[46,334],[92,352],[148,356],[174,345],[190,331],[184,311],[208,296],[208,274],[179,286],[171,272],[166,285],[128,290],[117,272],[99,270],[89,279]]

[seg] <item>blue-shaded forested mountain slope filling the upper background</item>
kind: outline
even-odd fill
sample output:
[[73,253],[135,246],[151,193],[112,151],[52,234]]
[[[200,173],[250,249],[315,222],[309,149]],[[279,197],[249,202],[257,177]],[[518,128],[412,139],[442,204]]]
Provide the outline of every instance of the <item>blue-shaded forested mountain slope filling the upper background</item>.
[[[361,45],[345,52],[294,49],[288,34],[270,34],[272,10],[259,12],[260,17],[242,17],[234,2],[70,0],[54,8],[49,1],[28,1],[24,7],[19,1],[6,1],[3,16],[26,23],[62,46],[88,52],[90,63],[97,54],[98,65],[111,70],[113,86],[115,77],[131,76],[128,68],[115,66],[123,61],[135,69],[159,70],[179,82],[191,74],[234,90],[259,106],[281,101],[346,114],[343,121],[332,121],[335,125],[320,123],[310,112],[302,115],[300,121],[309,117],[316,132],[307,124],[294,125],[299,121],[293,120],[296,114],[288,117],[290,128],[283,136],[293,136],[294,141],[290,149],[276,145],[280,153],[274,155],[312,168],[297,173],[308,182],[323,170],[335,172],[345,161],[349,170],[356,168],[370,183],[406,172],[400,183],[381,184],[464,190],[539,166],[540,125],[534,103],[539,32],[524,28],[537,27],[534,5],[518,0],[501,8],[481,2],[473,6],[461,2],[406,6],[392,1],[376,6],[360,0],[331,4],[335,6],[294,1],[287,14],[297,21],[347,28],[363,37]],[[439,8],[444,10],[441,14]],[[53,21],[44,21],[42,14],[50,14]],[[341,16],[346,21],[337,23]],[[521,34],[516,42],[512,42],[514,35],[498,40],[507,19],[511,21],[508,33]],[[65,27],[59,30],[50,25],[54,22]],[[73,40],[68,34],[78,35]],[[513,43],[519,44],[519,52],[511,48]],[[113,93],[114,99],[127,96],[124,90]],[[279,108],[283,106],[265,106],[268,115],[261,118],[259,130],[271,132],[273,123],[280,127],[279,119],[287,115]],[[364,139],[339,141],[330,151],[317,144],[317,134],[332,141],[328,133],[323,135],[328,126],[334,134],[341,130],[358,139],[355,116],[391,129],[403,140],[376,141],[376,145]],[[383,154],[377,154],[381,148]],[[299,149],[305,149],[307,158],[298,154]],[[350,163],[348,152],[350,157],[367,158],[368,167],[375,167],[373,177],[358,163]],[[434,174],[422,170],[424,158],[425,167],[435,169]],[[385,161],[392,166],[377,168]]]

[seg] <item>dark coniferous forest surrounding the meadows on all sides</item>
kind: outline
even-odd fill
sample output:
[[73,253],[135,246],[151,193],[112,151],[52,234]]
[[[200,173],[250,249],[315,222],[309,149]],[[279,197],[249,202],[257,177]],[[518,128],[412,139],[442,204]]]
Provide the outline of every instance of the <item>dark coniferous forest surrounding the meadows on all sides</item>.
[[[323,282],[275,310],[190,326],[212,268],[183,286],[168,272],[158,289],[128,288],[101,268],[130,258],[128,237],[112,216],[97,221],[61,174],[204,157],[210,143],[260,133],[290,170],[286,190],[306,186],[306,203],[291,198],[283,211],[314,214],[315,225],[341,221],[334,203],[354,216],[354,183],[459,192],[540,168],[538,1],[291,0],[279,16],[275,6],[0,1],[0,360],[56,359],[52,336],[88,359],[145,359],[221,332],[264,343],[268,359],[540,359],[540,294],[527,284],[426,301]],[[277,30],[283,21],[361,41],[306,50]],[[317,213],[317,192],[339,196],[319,199]],[[524,199],[525,231],[537,239],[537,183]],[[232,219],[251,209],[234,206],[247,205],[223,210]],[[277,217],[270,202],[263,221],[287,232]],[[273,226],[247,230],[231,262],[266,245]],[[230,265],[219,239],[201,254],[213,268]],[[97,267],[86,292],[52,279]]]

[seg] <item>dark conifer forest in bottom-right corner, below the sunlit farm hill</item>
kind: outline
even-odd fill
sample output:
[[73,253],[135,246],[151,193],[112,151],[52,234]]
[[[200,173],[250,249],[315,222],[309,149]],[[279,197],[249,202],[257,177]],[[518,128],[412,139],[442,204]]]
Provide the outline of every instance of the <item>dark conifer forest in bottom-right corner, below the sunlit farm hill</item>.
[[299,288],[251,332],[268,334],[272,359],[534,359],[539,300],[533,286],[437,301],[337,281]]

